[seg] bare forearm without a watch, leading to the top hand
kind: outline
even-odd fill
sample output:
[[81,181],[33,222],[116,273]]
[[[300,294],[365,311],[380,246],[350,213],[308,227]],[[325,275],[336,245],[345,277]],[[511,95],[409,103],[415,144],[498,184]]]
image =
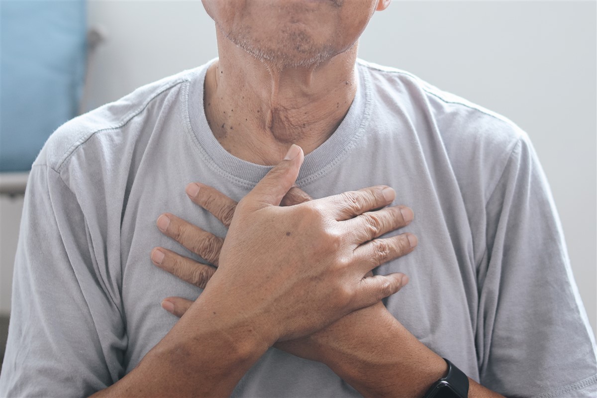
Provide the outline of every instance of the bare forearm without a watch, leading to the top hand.
[[254,323],[196,304],[133,371],[94,396],[230,396],[269,344]]

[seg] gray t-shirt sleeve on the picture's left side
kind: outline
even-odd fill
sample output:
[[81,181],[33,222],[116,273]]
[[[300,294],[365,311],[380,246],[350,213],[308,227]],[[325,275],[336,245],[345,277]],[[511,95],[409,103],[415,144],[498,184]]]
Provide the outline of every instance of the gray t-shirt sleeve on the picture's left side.
[[96,259],[72,190],[54,169],[34,165],[0,396],[88,396],[122,377],[123,314],[106,293]]

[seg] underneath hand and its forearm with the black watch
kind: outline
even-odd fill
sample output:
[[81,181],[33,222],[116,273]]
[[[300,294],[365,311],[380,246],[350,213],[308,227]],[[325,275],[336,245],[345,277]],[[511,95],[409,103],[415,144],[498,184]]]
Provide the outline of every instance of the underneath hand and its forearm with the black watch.
[[[187,187],[193,202],[228,227],[236,202],[208,186],[201,186],[197,195],[189,190],[193,185]],[[309,195],[293,187],[282,199],[281,205],[291,206],[307,200],[311,200]],[[413,213],[406,207],[401,207],[401,210],[405,215],[404,225],[407,225]],[[168,226],[162,232],[212,265],[198,263],[162,248],[153,249],[152,260],[162,269],[205,288],[216,271],[224,240],[180,218],[170,217],[172,227]],[[156,261],[156,251],[164,252],[161,264]],[[408,282],[408,278],[404,277],[403,286]],[[162,301],[162,306],[180,317],[192,303],[184,298],[168,297]],[[444,360],[408,332],[381,301],[353,311],[312,335],[276,343],[274,347],[325,363],[363,396],[422,396],[434,381],[445,376],[447,368]],[[501,397],[470,378],[469,384],[469,397]]]

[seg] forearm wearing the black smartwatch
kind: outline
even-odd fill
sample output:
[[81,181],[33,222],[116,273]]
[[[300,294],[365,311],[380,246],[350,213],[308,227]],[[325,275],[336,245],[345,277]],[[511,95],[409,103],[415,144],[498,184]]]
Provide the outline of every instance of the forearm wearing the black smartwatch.
[[[326,342],[324,348],[324,363],[363,396],[422,397],[445,376],[444,359],[390,313],[371,319],[371,325],[376,325],[373,333],[370,328],[358,328],[356,335]],[[355,343],[346,344],[349,340]],[[469,378],[469,397],[501,396]]]

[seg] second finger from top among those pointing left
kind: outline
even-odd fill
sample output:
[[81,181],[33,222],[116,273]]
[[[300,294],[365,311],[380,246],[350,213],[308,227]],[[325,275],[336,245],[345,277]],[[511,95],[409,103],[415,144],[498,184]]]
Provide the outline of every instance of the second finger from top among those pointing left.
[[170,213],[160,215],[156,224],[164,235],[170,236],[208,263],[218,266],[224,239]]

